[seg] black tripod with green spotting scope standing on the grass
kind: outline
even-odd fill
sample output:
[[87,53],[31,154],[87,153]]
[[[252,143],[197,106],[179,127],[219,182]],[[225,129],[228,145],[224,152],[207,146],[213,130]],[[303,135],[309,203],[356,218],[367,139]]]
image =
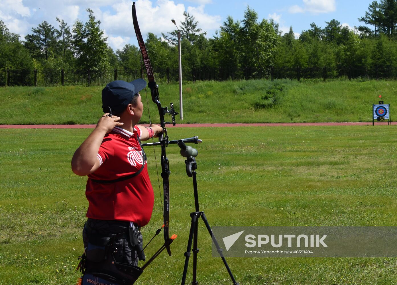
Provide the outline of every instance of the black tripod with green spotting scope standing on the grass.
[[231,270],[229,266],[227,265],[226,259],[222,253],[222,248],[220,248],[218,241],[215,238],[214,233],[212,232],[212,229],[210,227],[210,224],[208,223],[208,220],[204,214],[203,211],[200,211],[198,207],[198,193],[197,193],[197,180],[196,180],[196,169],[197,169],[197,162],[195,157],[197,156],[197,150],[195,148],[192,148],[191,146],[186,146],[185,143],[182,140],[179,140],[177,142],[179,147],[181,148],[181,156],[186,157],[187,159],[185,160],[186,164],[186,174],[189,177],[193,177],[193,190],[194,190],[194,195],[195,195],[195,206],[196,206],[196,212],[193,212],[190,214],[192,218],[192,222],[190,225],[190,232],[189,232],[189,241],[187,242],[187,250],[185,252],[185,267],[183,268],[183,276],[182,276],[182,285],[185,284],[186,281],[186,274],[187,274],[187,266],[189,264],[189,257],[190,257],[190,250],[192,248],[192,240],[193,240],[193,285],[197,285],[197,253],[198,253],[198,248],[197,248],[197,238],[198,238],[198,218],[201,217],[202,220],[205,223],[205,226],[208,230],[208,233],[210,234],[212,241],[214,245],[216,246],[216,249],[218,250],[218,253],[220,257],[222,258],[227,272],[229,272],[231,281],[233,281],[234,285],[239,285],[239,283],[234,279],[233,273],[231,273]]

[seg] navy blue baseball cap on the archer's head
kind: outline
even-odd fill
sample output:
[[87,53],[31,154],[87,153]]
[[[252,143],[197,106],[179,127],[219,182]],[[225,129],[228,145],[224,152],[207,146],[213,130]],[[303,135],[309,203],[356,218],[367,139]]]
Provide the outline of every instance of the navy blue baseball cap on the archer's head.
[[[108,83],[102,89],[102,111],[118,114],[133,100],[135,94],[146,87],[144,79],[135,79],[131,82],[116,80]],[[110,108],[110,109],[109,109]]]

